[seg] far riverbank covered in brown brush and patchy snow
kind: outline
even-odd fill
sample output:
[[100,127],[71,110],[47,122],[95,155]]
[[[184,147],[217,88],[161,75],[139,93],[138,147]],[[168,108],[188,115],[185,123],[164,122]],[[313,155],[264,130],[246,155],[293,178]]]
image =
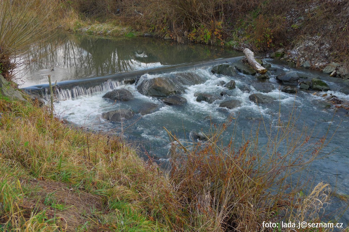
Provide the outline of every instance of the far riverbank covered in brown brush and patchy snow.
[[[338,63],[333,76],[349,77],[349,3],[345,1],[215,0],[206,2],[206,6],[169,1],[164,2],[167,8],[154,8],[153,1],[138,5],[104,2],[105,5],[74,2],[71,7],[75,22],[65,28],[79,33],[215,44],[240,51],[247,47],[261,56],[280,58],[297,67],[322,70]],[[273,56],[277,51],[278,55]]]

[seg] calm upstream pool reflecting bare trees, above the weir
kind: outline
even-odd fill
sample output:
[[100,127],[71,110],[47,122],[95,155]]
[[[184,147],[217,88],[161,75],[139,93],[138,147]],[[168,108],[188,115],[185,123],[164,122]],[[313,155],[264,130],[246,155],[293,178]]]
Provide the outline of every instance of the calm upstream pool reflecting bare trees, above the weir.
[[21,87],[47,83],[48,74],[52,80],[63,81],[231,56],[236,53],[221,47],[160,39],[58,34],[28,57],[38,62],[30,65]]

